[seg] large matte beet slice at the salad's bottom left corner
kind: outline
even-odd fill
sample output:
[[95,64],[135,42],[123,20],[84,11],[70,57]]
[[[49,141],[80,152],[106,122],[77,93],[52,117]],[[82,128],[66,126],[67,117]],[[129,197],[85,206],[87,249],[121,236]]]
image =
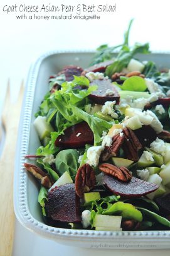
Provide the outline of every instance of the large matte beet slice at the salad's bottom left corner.
[[74,184],[65,184],[51,189],[46,202],[46,214],[55,221],[77,223],[82,220],[80,199],[75,194]]

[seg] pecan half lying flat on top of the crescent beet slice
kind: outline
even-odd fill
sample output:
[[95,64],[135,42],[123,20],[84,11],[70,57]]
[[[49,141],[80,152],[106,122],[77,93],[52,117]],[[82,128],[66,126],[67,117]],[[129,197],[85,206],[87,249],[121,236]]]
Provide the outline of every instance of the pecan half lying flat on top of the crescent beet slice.
[[102,163],[102,165],[100,165],[98,168],[100,171],[112,175],[121,182],[129,182],[132,178],[132,174],[124,166],[117,167],[115,165],[111,165],[110,163]]

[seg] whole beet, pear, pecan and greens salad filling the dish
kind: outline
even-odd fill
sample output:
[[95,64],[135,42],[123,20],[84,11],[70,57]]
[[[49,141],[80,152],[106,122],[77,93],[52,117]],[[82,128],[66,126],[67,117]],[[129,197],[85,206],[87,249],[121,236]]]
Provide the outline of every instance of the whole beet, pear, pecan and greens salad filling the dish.
[[35,113],[41,146],[24,167],[50,226],[170,230],[170,71],[137,59],[149,44],[129,47],[131,25],[89,67],[51,76]]

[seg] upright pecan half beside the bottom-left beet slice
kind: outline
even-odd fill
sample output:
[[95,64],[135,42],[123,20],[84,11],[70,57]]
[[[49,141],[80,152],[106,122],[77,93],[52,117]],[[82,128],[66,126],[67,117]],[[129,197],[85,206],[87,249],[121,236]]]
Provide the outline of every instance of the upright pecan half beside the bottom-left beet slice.
[[77,170],[75,177],[75,192],[78,197],[83,197],[84,192],[90,191],[96,184],[95,171],[92,166],[85,163]]

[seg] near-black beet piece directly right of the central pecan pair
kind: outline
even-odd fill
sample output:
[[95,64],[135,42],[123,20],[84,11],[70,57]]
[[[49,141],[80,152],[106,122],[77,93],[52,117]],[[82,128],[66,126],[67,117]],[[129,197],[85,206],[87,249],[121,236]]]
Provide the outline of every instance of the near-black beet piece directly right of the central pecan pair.
[[140,129],[134,130],[134,133],[142,146],[150,146],[157,137],[156,131],[150,125],[142,125]]

